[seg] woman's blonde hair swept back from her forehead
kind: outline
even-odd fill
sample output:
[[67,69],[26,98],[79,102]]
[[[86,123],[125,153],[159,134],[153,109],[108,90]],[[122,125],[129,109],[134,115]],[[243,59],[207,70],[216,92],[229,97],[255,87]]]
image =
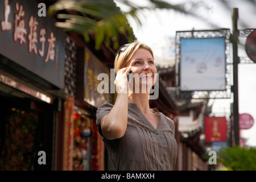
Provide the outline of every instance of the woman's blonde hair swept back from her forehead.
[[154,59],[153,51],[152,49],[147,46],[146,44],[138,42],[138,40],[134,40],[133,43],[131,43],[125,51],[117,53],[115,56],[115,63],[114,63],[114,68],[115,68],[115,73],[119,71],[119,69],[122,69],[125,67],[126,63],[133,57],[134,53],[139,49],[143,48],[149,51]]

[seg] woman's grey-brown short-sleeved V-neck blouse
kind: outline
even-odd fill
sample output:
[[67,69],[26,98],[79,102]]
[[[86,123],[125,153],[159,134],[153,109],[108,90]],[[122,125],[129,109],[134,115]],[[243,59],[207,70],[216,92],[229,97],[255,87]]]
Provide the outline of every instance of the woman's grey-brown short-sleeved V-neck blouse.
[[122,138],[108,140],[101,131],[100,121],[112,109],[112,104],[102,104],[97,109],[98,132],[117,170],[171,171],[177,157],[177,142],[174,137],[174,121],[163,113],[155,129],[137,104],[128,104],[128,120]]

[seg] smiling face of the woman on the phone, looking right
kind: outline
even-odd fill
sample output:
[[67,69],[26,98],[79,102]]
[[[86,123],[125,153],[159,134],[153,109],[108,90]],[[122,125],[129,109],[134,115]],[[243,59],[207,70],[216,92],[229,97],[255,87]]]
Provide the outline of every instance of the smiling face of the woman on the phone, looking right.
[[156,68],[154,59],[149,51],[139,48],[126,63],[133,71],[134,84],[144,85],[151,88],[155,84]]

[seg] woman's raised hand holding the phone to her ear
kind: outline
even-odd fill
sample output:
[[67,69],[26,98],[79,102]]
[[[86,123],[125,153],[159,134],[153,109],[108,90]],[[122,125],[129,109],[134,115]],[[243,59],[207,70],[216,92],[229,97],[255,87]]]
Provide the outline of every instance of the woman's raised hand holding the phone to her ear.
[[117,72],[115,76],[115,89],[117,93],[128,93],[129,92],[129,83],[127,80],[127,75],[129,74],[131,67],[122,68]]

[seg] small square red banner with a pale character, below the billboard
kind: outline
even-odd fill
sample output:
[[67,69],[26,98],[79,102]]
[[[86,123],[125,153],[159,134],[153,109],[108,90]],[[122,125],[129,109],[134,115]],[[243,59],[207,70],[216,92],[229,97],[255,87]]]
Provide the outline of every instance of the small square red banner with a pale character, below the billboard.
[[205,121],[205,142],[226,142],[226,117],[208,117]]

